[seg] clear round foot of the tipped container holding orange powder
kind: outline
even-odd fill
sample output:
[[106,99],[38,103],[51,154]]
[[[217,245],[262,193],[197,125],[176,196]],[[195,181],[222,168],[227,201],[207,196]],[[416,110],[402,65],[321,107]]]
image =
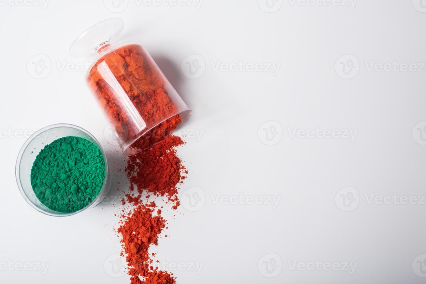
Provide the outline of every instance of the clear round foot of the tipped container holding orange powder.
[[89,57],[109,42],[115,40],[124,29],[120,18],[104,20],[83,32],[72,43],[69,54],[74,58]]

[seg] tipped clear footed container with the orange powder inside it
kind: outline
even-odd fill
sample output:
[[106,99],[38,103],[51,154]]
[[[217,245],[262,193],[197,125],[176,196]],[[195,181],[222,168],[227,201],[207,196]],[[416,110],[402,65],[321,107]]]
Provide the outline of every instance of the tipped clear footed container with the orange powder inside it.
[[141,45],[111,44],[123,27],[119,18],[92,26],[75,40],[70,54],[97,57],[87,83],[124,155],[134,155],[170,135],[192,112]]

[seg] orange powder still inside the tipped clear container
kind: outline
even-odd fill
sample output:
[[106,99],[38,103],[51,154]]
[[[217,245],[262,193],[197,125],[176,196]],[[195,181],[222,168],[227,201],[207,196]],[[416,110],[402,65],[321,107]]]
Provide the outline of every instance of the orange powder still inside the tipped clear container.
[[107,52],[89,71],[87,83],[112,122],[125,155],[158,143],[182,122],[169,96],[173,87],[142,46]]

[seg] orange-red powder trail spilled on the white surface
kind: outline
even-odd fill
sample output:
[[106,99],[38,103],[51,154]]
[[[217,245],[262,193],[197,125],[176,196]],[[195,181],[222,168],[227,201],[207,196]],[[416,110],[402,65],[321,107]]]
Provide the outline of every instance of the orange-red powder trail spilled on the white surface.
[[[145,191],[148,196],[166,196],[173,202],[172,209],[178,207],[177,186],[183,182],[184,174],[187,174],[176,153],[176,147],[182,144],[184,142],[181,138],[170,135],[127,160],[126,173],[132,193],[126,197],[134,209],[127,215],[121,215],[117,231],[121,234],[122,255],[126,256],[132,284],[176,283],[173,273],[155,267],[155,254],[148,252],[151,245],[157,245],[158,235],[166,221],[161,217],[161,209],[154,202],[144,204],[141,195]],[[135,188],[137,193],[134,192]]]

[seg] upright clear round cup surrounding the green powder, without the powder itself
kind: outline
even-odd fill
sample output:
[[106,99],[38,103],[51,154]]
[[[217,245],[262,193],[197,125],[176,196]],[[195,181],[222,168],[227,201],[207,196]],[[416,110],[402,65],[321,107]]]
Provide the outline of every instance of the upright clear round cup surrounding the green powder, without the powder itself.
[[[38,153],[40,153],[41,149],[43,149],[44,146],[52,143],[56,139],[63,138],[66,136],[77,136],[87,139],[92,143],[95,143],[101,150],[105,161],[104,184],[102,185],[98,196],[86,207],[71,213],[57,212],[55,210],[47,208],[38,200],[31,186],[31,168]],[[74,215],[83,210],[86,210],[87,208],[95,207],[101,202],[101,198],[107,195],[109,191],[109,186],[111,185],[111,176],[108,169],[107,156],[105,155],[104,149],[102,149],[101,144],[99,144],[96,138],[93,137],[93,135],[91,135],[89,132],[82,129],[81,127],[72,124],[54,124],[46,126],[45,128],[35,132],[30,138],[28,138],[28,140],[22,146],[18,158],[16,160],[15,174],[19,190],[23,198],[28,202],[28,204],[37,211],[51,216]]]

